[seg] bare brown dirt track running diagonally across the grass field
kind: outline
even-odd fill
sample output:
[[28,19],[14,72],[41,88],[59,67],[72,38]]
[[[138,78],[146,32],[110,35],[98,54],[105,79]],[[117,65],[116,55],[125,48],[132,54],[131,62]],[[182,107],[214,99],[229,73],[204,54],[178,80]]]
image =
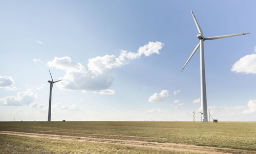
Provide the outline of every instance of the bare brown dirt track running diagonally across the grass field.
[[[227,152],[217,151],[217,149],[220,149],[223,151],[236,151],[236,152],[244,151],[245,152],[245,150],[237,150],[237,149],[231,149],[231,148],[197,146],[197,145],[187,145],[187,144],[178,144],[178,143],[158,143],[158,142],[147,142],[147,141],[136,141],[136,140],[102,139],[102,138],[93,138],[93,137],[79,137],[79,136],[23,133],[23,132],[9,132],[9,131],[0,131],[0,134],[57,139],[57,140],[76,141],[76,142],[92,142],[92,143],[114,144],[114,145],[122,145],[122,146],[157,148],[157,149],[167,149],[167,150],[174,150],[174,151],[196,152],[196,153],[227,153]],[[246,152],[251,153],[253,151],[246,151]]]

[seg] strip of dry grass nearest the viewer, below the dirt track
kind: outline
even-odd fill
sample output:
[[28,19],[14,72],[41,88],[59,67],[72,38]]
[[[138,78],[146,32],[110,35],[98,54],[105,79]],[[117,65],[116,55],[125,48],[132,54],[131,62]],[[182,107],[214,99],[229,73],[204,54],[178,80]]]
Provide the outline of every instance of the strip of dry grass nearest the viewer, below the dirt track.
[[0,135],[0,153],[187,153],[88,142]]

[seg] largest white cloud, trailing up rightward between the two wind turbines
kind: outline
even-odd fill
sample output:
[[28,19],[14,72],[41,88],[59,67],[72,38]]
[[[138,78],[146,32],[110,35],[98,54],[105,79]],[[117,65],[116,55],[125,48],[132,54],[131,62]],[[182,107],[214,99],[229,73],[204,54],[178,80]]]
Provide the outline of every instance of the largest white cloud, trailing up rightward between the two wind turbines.
[[[65,70],[66,74],[60,78],[63,81],[57,86],[63,90],[82,90],[82,92],[95,92],[99,94],[114,94],[115,91],[109,89],[113,84],[113,69],[128,64],[128,60],[140,58],[142,54],[150,56],[159,54],[162,48],[161,42],[149,42],[141,46],[137,53],[127,53],[121,50],[120,56],[105,55],[89,59],[88,70],[81,63],[75,63],[70,57],[55,57],[53,61],[47,63],[50,67]],[[135,54],[136,56],[131,56]]]

